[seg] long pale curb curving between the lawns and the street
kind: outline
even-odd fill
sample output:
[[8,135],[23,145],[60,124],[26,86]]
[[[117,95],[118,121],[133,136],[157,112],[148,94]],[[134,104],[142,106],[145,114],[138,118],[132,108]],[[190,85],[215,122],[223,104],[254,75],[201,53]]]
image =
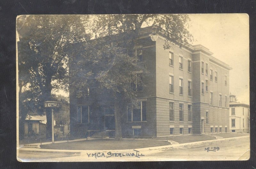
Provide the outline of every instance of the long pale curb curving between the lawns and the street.
[[[215,140],[204,140],[204,141],[198,141],[198,142],[191,142],[191,143],[182,143],[182,144],[171,144],[171,145],[163,145],[163,146],[157,146],[157,147],[147,147],[147,148],[139,148],[136,149],[138,151],[142,150],[156,150],[156,149],[163,149],[163,148],[172,148],[172,147],[179,147],[179,146],[187,146],[187,145],[196,145],[196,146],[202,146],[207,143],[213,144],[213,143],[222,143],[226,141],[232,141],[237,139],[243,139],[243,138],[250,138],[249,136],[240,136],[240,137],[229,137],[229,138],[220,138]],[[78,140],[77,140],[78,141]],[[199,144],[199,145],[197,145]],[[195,146],[186,147],[186,148],[193,148]],[[18,148],[18,151],[33,151],[33,152],[62,152],[62,153],[77,153],[77,152],[116,152],[116,151],[131,151],[133,149],[124,149],[124,150],[53,150],[53,149],[36,149],[36,148]]]

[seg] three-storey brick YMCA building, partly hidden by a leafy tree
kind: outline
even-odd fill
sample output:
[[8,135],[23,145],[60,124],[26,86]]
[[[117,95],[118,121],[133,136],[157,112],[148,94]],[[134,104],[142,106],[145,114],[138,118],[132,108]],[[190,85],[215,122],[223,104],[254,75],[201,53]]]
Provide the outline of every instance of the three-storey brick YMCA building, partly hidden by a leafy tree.
[[[136,88],[138,106],[122,116],[123,137],[166,137],[229,132],[229,67],[202,45],[164,49],[165,33],[156,41],[143,28],[134,53],[149,73]],[[70,69],[72,71],[72,69]],[[143,72],[141,72],[143,73]],[[140,74],[137,74],[140,78]],[[77,99],[70,92],[70,130],[115,133],[114,103],[107,97]]]

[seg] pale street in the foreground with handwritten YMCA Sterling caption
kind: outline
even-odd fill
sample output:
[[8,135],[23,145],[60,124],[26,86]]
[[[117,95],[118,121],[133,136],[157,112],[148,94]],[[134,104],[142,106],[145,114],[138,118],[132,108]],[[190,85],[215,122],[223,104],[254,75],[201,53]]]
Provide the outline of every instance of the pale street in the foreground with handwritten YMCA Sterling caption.
[[77,153],[21,151],[22,161],[180,161],[180,160],[246,160],[250,154],[250,139],[208,143],[206,145],[181,145],[156,150],[84,151]]

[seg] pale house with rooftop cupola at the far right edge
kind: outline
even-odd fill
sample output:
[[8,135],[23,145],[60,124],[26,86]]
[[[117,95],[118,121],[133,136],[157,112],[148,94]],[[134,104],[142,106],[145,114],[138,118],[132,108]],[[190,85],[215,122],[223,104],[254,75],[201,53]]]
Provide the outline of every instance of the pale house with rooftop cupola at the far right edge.
[[230,132],[250,132],[250,105],[236,102],[235,95],[229,95]]

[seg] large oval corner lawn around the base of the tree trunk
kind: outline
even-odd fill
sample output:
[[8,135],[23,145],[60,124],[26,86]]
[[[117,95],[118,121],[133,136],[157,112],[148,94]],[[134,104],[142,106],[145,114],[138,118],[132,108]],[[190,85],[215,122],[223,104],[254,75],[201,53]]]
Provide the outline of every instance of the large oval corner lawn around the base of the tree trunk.
[[161,145],[169,145],[166,141],[156,140],[122,140],[114,139],[95,139],[74,142],[64,142],[55,144],[41,145],[43,149],[58,149],[58,150],[124,150],[137,149],[145,147],[156,147]]

